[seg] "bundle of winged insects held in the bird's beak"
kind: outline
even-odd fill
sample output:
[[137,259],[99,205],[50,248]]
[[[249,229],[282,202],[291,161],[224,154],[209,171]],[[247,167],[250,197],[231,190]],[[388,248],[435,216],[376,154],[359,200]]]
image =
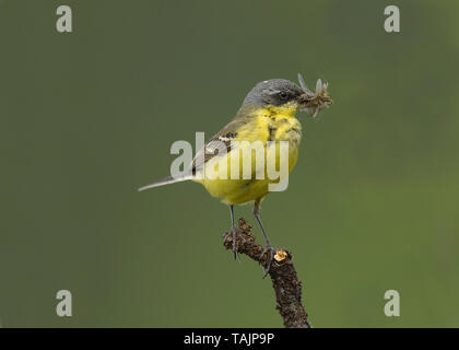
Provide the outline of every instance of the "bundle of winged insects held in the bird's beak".
[[313,118],[317,117],[320,110],[328,108],[333,103],[327,91],[328,83],[322,83],[318,79],[316,91],[313,92],[307,88],[301,73],[298,73],[298,82],[304,91],[304,94],[298,97],[299,108],[301,110],[307,110]]

